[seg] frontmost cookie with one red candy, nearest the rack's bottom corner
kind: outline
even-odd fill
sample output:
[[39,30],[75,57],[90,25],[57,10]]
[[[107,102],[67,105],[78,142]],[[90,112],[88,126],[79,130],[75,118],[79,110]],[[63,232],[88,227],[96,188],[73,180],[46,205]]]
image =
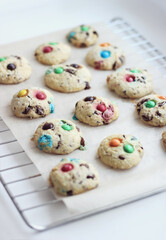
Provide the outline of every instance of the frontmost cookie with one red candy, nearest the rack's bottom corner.
[[99,178],[92,164],[77,158],[64,158],[52,169],[50,182],[55,192],[71,196],[96,188]]

